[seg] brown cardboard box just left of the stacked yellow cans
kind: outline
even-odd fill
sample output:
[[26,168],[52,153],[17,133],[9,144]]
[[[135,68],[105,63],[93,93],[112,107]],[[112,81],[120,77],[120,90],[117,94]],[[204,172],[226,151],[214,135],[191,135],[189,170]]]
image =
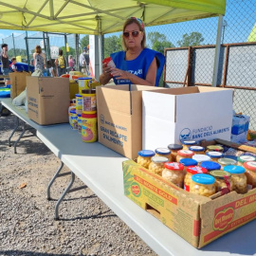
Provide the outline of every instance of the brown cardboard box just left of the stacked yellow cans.
[[69,80],[27,77],[28,118],[41,125],[68,122]]

